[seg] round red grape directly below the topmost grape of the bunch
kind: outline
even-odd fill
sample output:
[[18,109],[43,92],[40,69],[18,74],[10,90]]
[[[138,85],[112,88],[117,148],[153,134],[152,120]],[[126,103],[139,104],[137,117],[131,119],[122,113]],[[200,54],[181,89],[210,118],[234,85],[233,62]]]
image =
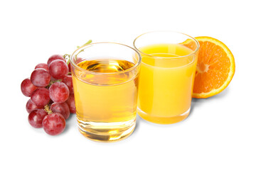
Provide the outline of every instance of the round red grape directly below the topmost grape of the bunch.
[[62,79],[68,75],[68,64],[63,60],[54,60],[50,62],[49,72],[54,79]]

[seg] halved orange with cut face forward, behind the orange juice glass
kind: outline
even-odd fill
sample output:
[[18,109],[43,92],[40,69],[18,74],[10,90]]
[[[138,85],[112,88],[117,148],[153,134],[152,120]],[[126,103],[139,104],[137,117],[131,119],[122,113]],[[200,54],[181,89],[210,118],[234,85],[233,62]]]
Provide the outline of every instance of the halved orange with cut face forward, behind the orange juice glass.
[[[215,38],[197,37],[200,44],[193,98],[208,98],[223,91],[235,74],[235,60],[228,47]],[[193,48],[193,42],[183,42]]]

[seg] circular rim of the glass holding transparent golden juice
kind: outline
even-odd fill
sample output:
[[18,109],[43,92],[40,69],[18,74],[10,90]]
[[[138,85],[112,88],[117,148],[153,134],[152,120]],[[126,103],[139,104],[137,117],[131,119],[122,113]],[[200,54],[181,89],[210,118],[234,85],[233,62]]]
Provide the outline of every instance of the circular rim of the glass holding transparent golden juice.
[[[131,50],[134,50],[134,52],[137,53],[137,55],[139,56],[139,60],[137,61],[136,64],[134,64],[134,66],[132,66],[131,68],[129,69],[125,69],[125,70],[122,70],[120,72],[110,72],[110,73],[102,73],[102,72],[93,72],[93,71],[88,71],[86,69],[82,69],[81,67],[79,67],[77,64],[75,64],[75,62],[73,61],[73,57],[75,56],[75,52],[78,52],[79,50],[81,50],[83,47],[90,47],[91,45],[99,45],[99,44],[112,44],[112,45],[122,45],[124,47],[129,47]],[[126,73],[126,72],[130,72],[134,69],[136,69],[139,64],[141,64],[142,62],[142,56],[140,55],[140,53],[138,52],[138,50],[136,50],[135,48],[133,47],[130,47],[128,45],[124,45],[124,44],[121,44],[121,43],[117,43],[117,42],[94,42],[94,43],[90,43],[90,44],[87,44],[87,45],[82,45],[81,47],[79,47],[77,50],[75,50],[73,52],[72,55],[70,55],[70,63],[73,65],[73,67],[75,67],[76,69],[79,69],[81,72],[87,72],[87,73],[90,73],[90,74],[122,74],[122,73]]]

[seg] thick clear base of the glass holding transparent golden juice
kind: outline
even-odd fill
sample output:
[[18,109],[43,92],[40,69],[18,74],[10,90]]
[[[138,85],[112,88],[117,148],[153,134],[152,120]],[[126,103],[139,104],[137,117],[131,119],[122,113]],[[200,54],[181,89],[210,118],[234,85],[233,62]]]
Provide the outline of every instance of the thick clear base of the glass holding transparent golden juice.
[[135,125],[136,118],[118,123],[85,122],[78,120],[78,129],[82,135],[97,142],[117,142],[123,140],[132,134]]

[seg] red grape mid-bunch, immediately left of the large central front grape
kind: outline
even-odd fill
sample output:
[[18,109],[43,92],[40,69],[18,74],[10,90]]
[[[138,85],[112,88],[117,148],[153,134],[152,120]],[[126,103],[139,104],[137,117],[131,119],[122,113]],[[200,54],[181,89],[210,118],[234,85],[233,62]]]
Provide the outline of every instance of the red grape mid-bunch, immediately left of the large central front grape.
[[31,94],[31,101],[36,104],[36,106],[46,106],[50,101],[49,91],[46,88],[38,88]]

